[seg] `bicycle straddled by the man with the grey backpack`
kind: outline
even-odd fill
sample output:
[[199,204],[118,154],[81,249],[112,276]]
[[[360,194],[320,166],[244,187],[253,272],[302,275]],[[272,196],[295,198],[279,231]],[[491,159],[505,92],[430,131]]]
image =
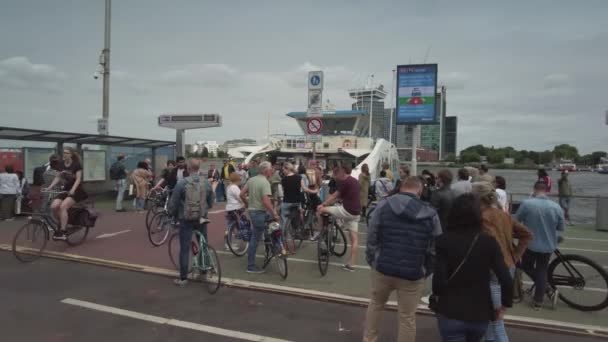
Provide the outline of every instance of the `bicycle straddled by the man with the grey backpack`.
[[[211,221],[205,220],[206,225]],[[190,242],[190,261],[188,273],[198,271],[201,282],[207,284],[207,292],[215,294],[221,286],[222,268],[220,259],[213,247],[207,243],[205,235],[200,229],[194,229],[192,241]],[[175,232],[169,239],[169,259],[173,266],[179,271],[179,232]]]

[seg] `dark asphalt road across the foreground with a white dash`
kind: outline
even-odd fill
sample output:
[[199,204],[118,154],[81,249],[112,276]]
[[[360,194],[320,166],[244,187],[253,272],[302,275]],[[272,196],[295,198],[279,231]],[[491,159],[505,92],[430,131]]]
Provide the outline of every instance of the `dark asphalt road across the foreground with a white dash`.
[[[209,295],[197,283],[178,288],[166,277],[46,258],[20,264],[6,252],[0,269],[6,341],[359,341],[363,331],[365,308],[356,306],[232,288]],[[394,312],[382,328],[382,341],[396,339]],[[601,340],[515,328],[509,334],[518,342]],[[439,340],[434,318],[418,317],[417,340]]]

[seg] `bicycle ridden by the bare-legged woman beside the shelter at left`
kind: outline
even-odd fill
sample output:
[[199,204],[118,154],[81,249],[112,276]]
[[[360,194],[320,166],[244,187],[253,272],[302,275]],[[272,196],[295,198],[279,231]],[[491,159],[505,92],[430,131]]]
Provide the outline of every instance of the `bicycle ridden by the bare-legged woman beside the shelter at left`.
[[[41,193],[48,194],[47,208],[49,209],[47,212],[27,213],[30,215],[28,222],[19,228],[13,237],[12,252],[15,258],[21,262],[32,262],[40,258],[51,234],[55,234],[59,229],[57,222],[49,212],[50,203],[57,195],[65,194],[67,191],[41,191]],[[89,211],[88,202],[76,203],[68,211],[65,243],[69,246],[82,244],[89,234],[89,229],[95,225],[96,219],[97,215]],[[24,238],[24,241],[21,241],[20,238]],[[27,246],[27,243],[31,243],[32,247]]]

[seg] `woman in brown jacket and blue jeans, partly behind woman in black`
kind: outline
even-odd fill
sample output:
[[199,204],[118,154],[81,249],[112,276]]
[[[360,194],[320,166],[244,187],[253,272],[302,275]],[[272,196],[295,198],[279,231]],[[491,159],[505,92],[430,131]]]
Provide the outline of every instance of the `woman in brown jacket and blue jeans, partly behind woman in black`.
[[[532,233],[499,208],[497,194],[490,183],[473,183],[473,194],[479,197],[481,203],[482,231],[494,237],[498,242],[505,265],[509,269],[509,275],[513,278],[515,265],[521,261],[526,247],[532,240]],[[517,245],[514,243],[515,239],[517,239]],[[490,291],[494,309],[498,310],[502,307],[501,288],[498,278],[493,273],[490,276]],[[485,340],[509,341],[502,319],[490,322]]]

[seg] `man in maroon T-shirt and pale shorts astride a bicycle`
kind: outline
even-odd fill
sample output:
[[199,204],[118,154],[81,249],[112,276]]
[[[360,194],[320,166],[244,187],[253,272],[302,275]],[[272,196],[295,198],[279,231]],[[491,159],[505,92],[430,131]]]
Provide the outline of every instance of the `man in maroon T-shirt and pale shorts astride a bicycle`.
[[[329,195],[327,199],[317,207],[319,222],[322,222],[321,215],[324,213],[334,216],[334,218],[344,222],[343,228],[350,232],[350,259],[347,264],[342,265],[342,269],[354,272],[353,267],[357,262],[357,252],[359,251],[359,218],[361,215],[361,203],[359,202],[359,181],[350,175],[352,169],[349,165],[342,164],[334,168],[334,178],[340,183],[338,190]],[[330,207],[332,203],[341,200],[342,204]],[[320,231],[313,236],[312,240],[319,238]]]

